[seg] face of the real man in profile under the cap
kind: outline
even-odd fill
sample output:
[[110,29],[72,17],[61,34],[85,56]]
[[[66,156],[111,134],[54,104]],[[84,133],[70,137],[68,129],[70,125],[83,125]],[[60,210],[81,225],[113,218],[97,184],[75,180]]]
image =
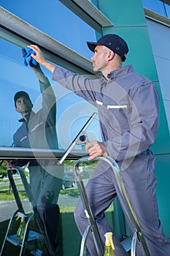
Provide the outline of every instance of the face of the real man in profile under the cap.
[[105,47],[104,45],[96,45],[95,53],[91,57],[93,61],[93,71],[94,72],[102,72],[104,73],[104,70],[107,67],[107,53],[109,52],[109,49]]

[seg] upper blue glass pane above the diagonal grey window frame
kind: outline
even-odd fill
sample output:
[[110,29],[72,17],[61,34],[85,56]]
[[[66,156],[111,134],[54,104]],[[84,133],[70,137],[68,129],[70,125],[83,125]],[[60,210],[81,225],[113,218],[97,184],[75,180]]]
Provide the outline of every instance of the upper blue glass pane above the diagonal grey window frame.
[[[17,15],[85,58],[92,56],[86,41],[96,41],[95,31],[58,0],[6,1],[1,7]],[[72,20],[72,22],[70,22]]]

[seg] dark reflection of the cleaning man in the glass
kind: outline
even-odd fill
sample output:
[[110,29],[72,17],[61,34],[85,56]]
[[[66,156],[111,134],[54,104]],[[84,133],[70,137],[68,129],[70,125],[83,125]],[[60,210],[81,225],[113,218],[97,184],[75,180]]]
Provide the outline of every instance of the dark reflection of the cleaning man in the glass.
[[[31,148],[58,148],[55,129],[55,94],[39,64],[33,68],[39,78],[42,93],[42,108],[34,113],[32,102],[26,91],[15,94],[15,108],[22,118],[22,125],[14,135],[14,146]],[[28,161],[16,162],[25,165]],[[57,230],[59,222],[58,194],[61,189],[63,167],[57,159],[31,160],[28,165],[31,192],[36,206],[34,213],[47,242],[48,255],[57,255]],[[12,165],[12,163],[11,163]],[[8,167],[11,166],[8,162]],[[56,178],[56,176],[58,178]]]

